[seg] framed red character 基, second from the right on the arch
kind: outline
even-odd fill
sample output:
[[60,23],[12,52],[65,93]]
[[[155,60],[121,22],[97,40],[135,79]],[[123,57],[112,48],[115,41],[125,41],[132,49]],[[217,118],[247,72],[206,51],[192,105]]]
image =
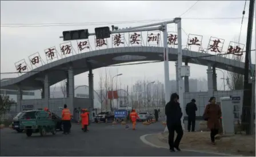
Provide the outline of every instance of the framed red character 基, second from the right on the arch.
[[211,36],[206,52],[207,53],[209,53],[209,52],[221,53],[224,42],[225,42],[224,39],[215,38],[215,37]]

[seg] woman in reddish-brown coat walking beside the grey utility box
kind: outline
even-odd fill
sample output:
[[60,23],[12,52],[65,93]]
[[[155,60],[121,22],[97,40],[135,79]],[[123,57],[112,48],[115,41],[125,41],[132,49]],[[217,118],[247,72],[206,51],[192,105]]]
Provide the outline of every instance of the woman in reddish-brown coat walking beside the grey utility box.
[[221,128],[219,119],[221,118],[221,108],[215,103],[215,97],[211,97],[210,104],[206,105],[203,117],[207,120],[207,127],[211,130],[210,137],[211,143],[215,144],[215,135],[218,134]]

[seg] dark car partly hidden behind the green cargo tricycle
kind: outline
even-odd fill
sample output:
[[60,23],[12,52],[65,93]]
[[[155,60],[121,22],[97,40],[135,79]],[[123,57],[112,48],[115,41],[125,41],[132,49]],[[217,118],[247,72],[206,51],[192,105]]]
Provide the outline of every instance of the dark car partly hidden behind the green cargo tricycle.
[[[29,110],[29,111],[22,111],[19,112],[14,118],[12,122],[13,130],[16,130],[18,133],[21,133],[23,130],[19,129],[19,121],[20,119],[34,119],[35,115],[37,114],[38,110]],[[63,130],[62,120],[61,117],[56,115],[55,113],[51,113],[51,117],[56,124],[56,129],[59,131]]]

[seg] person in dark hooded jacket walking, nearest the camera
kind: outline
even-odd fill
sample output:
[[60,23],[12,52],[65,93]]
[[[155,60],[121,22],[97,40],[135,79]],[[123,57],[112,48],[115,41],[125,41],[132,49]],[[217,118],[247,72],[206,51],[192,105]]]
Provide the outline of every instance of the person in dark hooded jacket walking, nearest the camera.
[[[179,148],[179,143],[181,142],[183,136],[183,130],[181,125],[182,111],[181,106],[179,106],[179,96],[177,93],[171,94],[170,101],[165,106],[166,115],[166,125],[169,130],[169,146],[170,151],[176,150],[181,151]],[[174,131],[177,133],[177,137],[174,141]]]

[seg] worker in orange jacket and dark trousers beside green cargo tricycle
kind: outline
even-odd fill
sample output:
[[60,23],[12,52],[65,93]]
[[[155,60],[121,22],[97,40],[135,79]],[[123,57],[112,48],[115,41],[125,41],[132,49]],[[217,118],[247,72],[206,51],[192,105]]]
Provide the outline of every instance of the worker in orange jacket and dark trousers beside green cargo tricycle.
[[71,127],[71,112],[69,109],[67,109],[67,105],[64,105],[64,109],[62,110],[62,124],[63,124],[63,134],[69,134],[70,133],[70,127]]

